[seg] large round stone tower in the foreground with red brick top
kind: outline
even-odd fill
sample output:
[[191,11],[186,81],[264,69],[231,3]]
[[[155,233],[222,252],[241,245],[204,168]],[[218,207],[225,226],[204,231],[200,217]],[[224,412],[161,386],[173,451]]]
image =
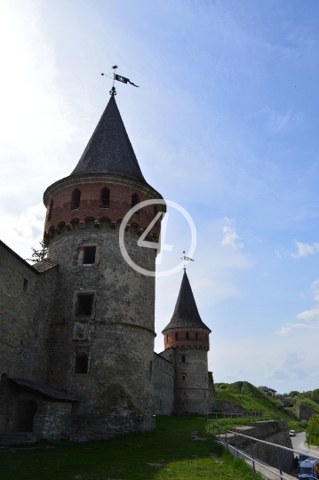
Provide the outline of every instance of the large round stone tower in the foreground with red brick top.
[[[153,428],[155,278],[129,267],[119,247],[124,215],[149,199],[163,197],[140,171],[113,90],[75,170],[44,192],[44,241],[59,263],[47,380],[79,399],[71,439]],[[144,207],[125,228],[127,252],[151,271],[156,249],[137,240],[164,207]],[[159,235],[157,221],[148,241]]]

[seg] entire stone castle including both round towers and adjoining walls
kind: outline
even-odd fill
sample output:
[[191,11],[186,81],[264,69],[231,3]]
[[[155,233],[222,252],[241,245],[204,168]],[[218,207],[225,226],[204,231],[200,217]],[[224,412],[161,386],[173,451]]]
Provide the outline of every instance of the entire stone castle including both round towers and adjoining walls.
[[138,240],[148,229],[156,246],[166,205],[140,171],[115,93],[75,170],[44,192],[48,258],[31,266],[0,242],[0,441],[107,438],[154,428],[154,412],[211,405],[211,331],[186,273],[157,355],[155,276],[121,250],[154,273],[157,250]]

